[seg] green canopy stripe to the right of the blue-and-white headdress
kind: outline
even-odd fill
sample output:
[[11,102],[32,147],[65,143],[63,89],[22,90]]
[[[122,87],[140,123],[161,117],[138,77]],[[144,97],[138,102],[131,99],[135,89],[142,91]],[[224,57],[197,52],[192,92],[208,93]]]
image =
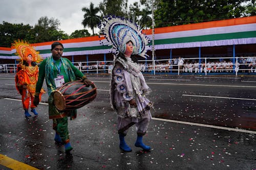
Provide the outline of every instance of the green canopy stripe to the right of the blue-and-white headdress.
[[[256,31],[227,33],[227,34],[212,34],[212,35],[202,35],[202,36],[195,36],[195,37],[159,39],[159,40],[155,40],[155,45],[199,42],[199,41],[217,41],[217,40],[253,38],[253,37],[256,37]],[[152,45],[152,42],[149,45]]]

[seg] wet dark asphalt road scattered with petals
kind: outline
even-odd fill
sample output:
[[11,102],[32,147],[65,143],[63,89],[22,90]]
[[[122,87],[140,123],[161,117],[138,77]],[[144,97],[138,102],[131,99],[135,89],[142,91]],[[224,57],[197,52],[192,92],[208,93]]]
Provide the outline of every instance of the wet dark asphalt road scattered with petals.
[[110,77],[88,77],[97,98],[69,121],[74,150],[66,155],[53,140],[47,95],[39,116],[25,118],[14,75],[0,74],[0,154],[38,169],[256,169],[256,77],[145,75],[155,104],[143,140],[152,150],[134,147],[133,127],[131,153],[119,149]]

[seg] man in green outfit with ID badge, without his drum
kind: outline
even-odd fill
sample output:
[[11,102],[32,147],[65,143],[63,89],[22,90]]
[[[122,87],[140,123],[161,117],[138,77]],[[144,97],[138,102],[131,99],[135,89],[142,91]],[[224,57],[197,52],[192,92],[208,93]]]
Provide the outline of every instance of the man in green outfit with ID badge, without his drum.
[[39,65],[39,76],[36,83],[36,93],[34,105],[39,104],[39,93],[46,80],[48,89],[49,118],[53,119],[53,130],[55,130],[55,142],[65,145],[65,152],[69,153],[73,148],[70,144],[68,131],[68,117],[76,118],[76,110],[59,111],[53,103],[52,92],[64,83],[82,79],[83,83],[90,86],[92,82],[87,79],[67,58],[62,58],[63,45],[60,42],[54,42],[51,45],[52,56],[46,58]]

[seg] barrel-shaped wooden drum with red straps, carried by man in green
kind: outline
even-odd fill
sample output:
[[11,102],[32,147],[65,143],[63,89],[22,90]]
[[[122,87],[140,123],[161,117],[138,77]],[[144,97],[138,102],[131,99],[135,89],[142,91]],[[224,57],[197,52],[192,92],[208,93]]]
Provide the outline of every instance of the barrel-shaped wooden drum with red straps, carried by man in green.
[[96,98],[96,90],[94,83],[87,87],[80,80],[69,82],[52,92],[53,102],[59,111],[78,109]]

